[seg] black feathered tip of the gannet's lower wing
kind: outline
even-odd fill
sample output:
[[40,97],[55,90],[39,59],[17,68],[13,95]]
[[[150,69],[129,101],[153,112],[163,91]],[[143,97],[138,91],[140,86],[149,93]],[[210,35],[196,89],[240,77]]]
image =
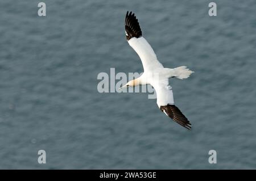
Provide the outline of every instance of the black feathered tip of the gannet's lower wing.
[[191,129],[191,123],[175,105],[167,104],[166,106],[160,106],[160,110],[184,128]]

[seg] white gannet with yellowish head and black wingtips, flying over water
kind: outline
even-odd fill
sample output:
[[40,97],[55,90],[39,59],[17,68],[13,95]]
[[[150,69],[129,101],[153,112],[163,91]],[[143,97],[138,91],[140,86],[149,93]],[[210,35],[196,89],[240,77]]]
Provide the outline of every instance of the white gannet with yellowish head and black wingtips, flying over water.
[[150,44],[142,36],[138,19],[132,12],[129,13],[129,11],[127,11],[125,18],[125,33],[129,45],[141,58],[144,72],[141,77],[129,81],[123,87],[150,84],[156,91],[156,103],[160,110],[171,117],[176,123],[187,129],[191,129],[191,123],[189,123],[187,117],[174,104],[174,95],[172,94],[172,87],[169,85],[168,78],[188,78],[193,71],[187,69],[186,66],[179,66],[174,69],[164,68],[158,61]]

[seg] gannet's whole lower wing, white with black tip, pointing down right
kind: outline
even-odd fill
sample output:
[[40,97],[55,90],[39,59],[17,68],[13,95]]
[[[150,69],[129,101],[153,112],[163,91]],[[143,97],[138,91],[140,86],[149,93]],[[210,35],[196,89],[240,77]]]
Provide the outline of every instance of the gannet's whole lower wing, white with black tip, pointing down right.
[[168,79],[164,79],[164,81],[153,85],[153,87],[156,91],[157,104],[160,110],[176,123],[191,129],[191,123],[189,123],[187,117],[174,105],[172,87],[168,85]]

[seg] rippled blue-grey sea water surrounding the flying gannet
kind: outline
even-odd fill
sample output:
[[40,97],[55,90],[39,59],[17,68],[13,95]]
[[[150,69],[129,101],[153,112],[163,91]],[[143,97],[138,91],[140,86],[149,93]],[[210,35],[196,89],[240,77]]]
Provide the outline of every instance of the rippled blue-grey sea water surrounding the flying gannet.
[[[256,169],[256,1],[0,1],[0,169]],[[147,93],[99,93],[98,73],[142,72],[127,10],[192,130]],[[38,163],[38,150],[46,164]],[[217,151],[209,164],[208,151]]]

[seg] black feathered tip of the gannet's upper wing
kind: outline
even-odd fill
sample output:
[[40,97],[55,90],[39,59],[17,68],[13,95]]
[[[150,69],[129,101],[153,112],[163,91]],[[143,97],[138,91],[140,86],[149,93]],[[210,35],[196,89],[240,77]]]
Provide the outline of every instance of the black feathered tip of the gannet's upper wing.
[[142,31],[141,27],[139,26],[138,19],[132,11],[130,11],[130,13],[129,11],[126,12],[125,32],[127,41],[129,41],[132,37],[138,38],[142,36]]

